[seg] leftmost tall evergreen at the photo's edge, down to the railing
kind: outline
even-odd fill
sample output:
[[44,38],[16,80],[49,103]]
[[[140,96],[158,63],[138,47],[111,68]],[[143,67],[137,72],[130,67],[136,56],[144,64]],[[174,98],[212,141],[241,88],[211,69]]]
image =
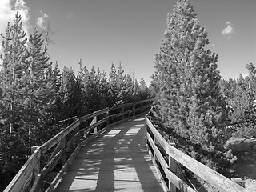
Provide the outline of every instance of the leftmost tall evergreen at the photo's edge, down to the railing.
[[27,132],[24,129],[24,106],[26,70],[26,33],[22,30],[21,16],[17,13],[14,24],[8,23],[6,34],[1,34],[3,54],[0,71],[0,172],[3,183],[10,179],[26,161],[30,149],[26,146]]

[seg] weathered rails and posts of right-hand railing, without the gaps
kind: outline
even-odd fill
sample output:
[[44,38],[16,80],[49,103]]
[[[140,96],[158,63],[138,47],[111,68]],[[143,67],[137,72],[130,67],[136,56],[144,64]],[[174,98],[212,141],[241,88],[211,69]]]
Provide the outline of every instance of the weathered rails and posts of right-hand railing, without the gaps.
[[[197,174],[200,178],[210,183],[210,185],[214,186],[222,192],[246,192],[245,188],[239,186],[235,182],[232,182],[229,178],[224,177],[222,174],[218,174],[218,172],[210,169],[208,166],[203,165],[201,162],[196,161],[194,158],[191,158],[190,156],[176,149],[174,146],[171,146],[170,143],[166,142],[162,135],[159,134],[158,130],[154,127],[153,123],[150,122],[149,118],[147,117],[146,124],[148,126],[148,129],[150,129],[152,133],[151,135],[150,133],[146,134],[149,146],[152,149],[152,153],[154,154],[154,157],[152,158],[154,158],[154,161],[157,159],[158,162],[160,162],[158,165],[161,167],[158,167],[158,169],[164,170],[166,178],[168,178],[171,182],[171,184],[169,185],[167,183],[166,186],[168,186],[168,188],[171,187],[172,191],[174,191],[173,186],[175,186],[180,191],[195,191],[190,188],[190,186],[187,186],[186,183],[182,182],[182,180],[171,171],[174,171],[173,163],[175,160],[182,164],[182,166],[186,166],[187,169],[192,171],[194,174]],[[172,167],[167,165],[166,160],[164,159],[161,152],[158,150],[158,146],[155,144],[155,142],[158,142],[158,145],[162,146],[162,149],[169,157],[169,161],[172,161],[169,162],[170,166]]]

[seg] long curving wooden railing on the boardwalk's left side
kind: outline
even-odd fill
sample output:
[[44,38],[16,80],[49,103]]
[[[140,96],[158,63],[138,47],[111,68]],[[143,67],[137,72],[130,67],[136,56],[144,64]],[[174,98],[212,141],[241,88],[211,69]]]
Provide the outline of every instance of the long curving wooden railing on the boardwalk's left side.
[[42,146],[32,147],[32,155],[4,192],[52,191],[81,146],[108,130],[150,110],[152,99],[98,110],[76,118],[70,126]]

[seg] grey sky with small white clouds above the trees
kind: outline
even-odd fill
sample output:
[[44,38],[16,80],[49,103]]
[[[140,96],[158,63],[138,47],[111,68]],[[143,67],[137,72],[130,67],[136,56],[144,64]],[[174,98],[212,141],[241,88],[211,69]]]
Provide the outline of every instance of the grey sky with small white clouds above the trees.
[[[24,30],[46,29],[54,44],[50,61],[110,73],[119,62],[127,74],[150,85],[154,57],[159,52],[166,16],[176,0],[1,0],[0,33],[18,11]],[[256,0],[190,0],[200,25],[208,32],[206,49],[218,54],[222,78],[248,74],[246,64],[256,64]],[[0,52],[2,50],[0,49]]]

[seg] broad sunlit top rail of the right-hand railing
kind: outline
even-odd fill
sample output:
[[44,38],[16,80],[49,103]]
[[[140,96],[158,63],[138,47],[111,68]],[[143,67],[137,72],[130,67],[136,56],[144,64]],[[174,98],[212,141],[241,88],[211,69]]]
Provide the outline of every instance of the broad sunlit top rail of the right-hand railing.
[[186,166],[189,170],[197,174],[200,178],[204,179],[210,185],[216,187],[218,190],[225,192],[246,192],[247,190],[242,186],[239,186],[235,182],[232,182],[229,178],[224,177],[222,174],[210,169],[208,166],[203,165],[201,162],[196,161],[187,154],[182,153],[174,146],[170,146],[162,135],[159,134],[158,130],[155,129],[154,125],[148,118],[146,118],[146,124],[154,134],[154,137],[158,139],[158,142],[166,150],[166,153],[174,158],[177,162]]

